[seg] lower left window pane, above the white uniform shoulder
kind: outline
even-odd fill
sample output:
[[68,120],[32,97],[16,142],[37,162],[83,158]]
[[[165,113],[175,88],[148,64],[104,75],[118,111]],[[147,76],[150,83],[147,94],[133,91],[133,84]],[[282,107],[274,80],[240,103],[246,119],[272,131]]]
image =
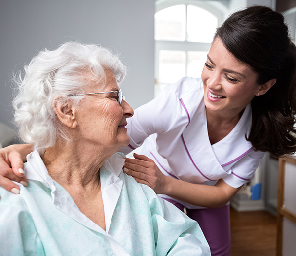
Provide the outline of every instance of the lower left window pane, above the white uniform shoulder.
[[186,53],[183,51],[159,52],[159,83],[170,84],[185,76]]

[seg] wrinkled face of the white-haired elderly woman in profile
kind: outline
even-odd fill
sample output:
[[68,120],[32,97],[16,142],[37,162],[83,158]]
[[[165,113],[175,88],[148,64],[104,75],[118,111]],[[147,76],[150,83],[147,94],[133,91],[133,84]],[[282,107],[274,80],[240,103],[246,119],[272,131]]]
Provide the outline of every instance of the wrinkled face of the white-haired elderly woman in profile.
[[[112,71],[105,71],[106,84],[91,81],[84,93],[117,91],[119,86]],[[127,118],[133,115],[133,109],[122,100],[116,100],[116,93],[87,95],[78,107],[79,139],[101,146],[111,151],[118,151],[129,144],[126,134]]]

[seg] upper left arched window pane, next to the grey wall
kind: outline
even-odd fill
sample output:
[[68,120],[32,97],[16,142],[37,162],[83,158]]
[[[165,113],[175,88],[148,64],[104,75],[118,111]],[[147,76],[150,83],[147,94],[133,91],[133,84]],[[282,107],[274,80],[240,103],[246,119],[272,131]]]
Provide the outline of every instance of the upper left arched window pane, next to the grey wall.
[[175,5],[155,14],[155,40],[185,41],[185,8],[185,5]]

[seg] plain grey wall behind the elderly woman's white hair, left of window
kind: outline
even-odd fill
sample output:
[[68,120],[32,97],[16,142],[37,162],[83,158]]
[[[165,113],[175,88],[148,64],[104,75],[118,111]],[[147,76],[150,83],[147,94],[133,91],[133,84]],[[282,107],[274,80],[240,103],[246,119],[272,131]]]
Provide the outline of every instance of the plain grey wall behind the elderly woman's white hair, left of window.
[[0,122],[12,120],[9,74],[44,47],[75,39],[121,53],[129,68],[122,89],[133,108],[153,98],[153,0],[1,0]]

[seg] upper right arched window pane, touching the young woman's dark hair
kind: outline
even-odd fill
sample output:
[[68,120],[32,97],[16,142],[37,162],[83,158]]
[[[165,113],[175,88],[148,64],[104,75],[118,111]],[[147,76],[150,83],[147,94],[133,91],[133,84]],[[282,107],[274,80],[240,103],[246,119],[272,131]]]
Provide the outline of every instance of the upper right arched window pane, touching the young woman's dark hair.
[[218,19],[208,11],[187,6],[187,41],[211,43],[218,26]]

